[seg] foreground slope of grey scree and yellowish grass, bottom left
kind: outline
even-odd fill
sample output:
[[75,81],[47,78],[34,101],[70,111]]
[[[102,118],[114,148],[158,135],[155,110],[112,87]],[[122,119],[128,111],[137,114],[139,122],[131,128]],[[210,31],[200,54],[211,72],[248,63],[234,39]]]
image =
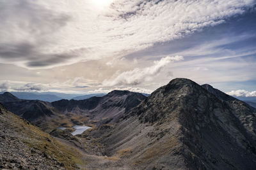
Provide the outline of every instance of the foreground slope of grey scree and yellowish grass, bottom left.
[[77,169],[81,153],[0,104],[0,169]]

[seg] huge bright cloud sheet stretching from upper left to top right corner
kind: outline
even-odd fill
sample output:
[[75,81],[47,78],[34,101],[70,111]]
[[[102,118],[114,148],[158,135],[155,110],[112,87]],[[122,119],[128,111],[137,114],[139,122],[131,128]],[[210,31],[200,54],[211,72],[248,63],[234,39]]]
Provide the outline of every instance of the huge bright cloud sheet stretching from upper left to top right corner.
[[221,24],[254,4],[253,0],[118,0],[96,8],[84,0],[0,1],[0,62],[38,69],[122,58]]

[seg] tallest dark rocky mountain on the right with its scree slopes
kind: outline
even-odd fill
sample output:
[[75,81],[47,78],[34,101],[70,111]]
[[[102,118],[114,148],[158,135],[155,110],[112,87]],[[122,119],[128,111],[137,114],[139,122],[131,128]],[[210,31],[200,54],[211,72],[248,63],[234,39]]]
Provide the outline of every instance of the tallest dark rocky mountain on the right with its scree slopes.
[[86,136],[97,138],[104,155],[129,169],[255,169],[255,115],[234,97],[177,78],[115,127]]

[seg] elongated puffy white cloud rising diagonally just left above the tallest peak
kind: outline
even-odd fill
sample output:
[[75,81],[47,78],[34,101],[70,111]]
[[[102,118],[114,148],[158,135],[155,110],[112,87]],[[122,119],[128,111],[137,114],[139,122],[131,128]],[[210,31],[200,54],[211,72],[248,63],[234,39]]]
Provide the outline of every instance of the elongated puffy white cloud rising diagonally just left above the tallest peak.
[[150,81],[154,76],[159,74],[164,66],[170,62],[183,60],[182,56],[163,57],[161,60],[154,61],[154,65],[145,68],[136,68],[123,73],[116,73],[109,80],[104,80],[104,87],[113,87],[116,85],[139,85],[145,81]]

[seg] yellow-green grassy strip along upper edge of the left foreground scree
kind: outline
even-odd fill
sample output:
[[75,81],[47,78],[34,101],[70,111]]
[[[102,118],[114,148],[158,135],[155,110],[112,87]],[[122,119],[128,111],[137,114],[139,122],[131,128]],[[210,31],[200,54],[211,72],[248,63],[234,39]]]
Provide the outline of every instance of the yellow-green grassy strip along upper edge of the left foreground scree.
[[66,169],[76,169],[77,164],[82,164],[82,155],[76,148],[67,146],[58,139],[52,138],[51,135],[2,106],[0,106],[0,111],[3,113],[0,115],[2,117],[0,119],[1,124],[6,124],[6,126],[13,129],[13,133],[17,134],[20,141],[26,143],[29,148],[35,148],[42,153],[46,153],[49,157],[63,163]]

